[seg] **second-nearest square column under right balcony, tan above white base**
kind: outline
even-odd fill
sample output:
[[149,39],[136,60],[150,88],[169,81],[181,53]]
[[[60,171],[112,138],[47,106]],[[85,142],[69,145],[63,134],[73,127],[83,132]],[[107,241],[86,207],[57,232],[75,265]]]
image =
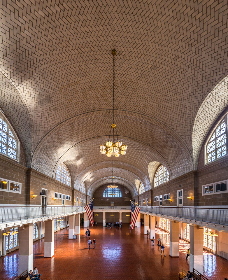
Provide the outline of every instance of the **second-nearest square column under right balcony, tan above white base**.
[[169,221],[169,255],[179,257],[179,222]]

